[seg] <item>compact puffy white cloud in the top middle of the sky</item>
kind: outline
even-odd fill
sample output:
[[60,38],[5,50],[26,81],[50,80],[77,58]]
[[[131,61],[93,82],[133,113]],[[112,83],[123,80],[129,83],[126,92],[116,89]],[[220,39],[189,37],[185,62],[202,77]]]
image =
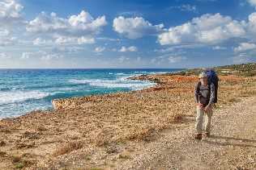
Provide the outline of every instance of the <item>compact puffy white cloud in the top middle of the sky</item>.
[[113,19],[113,30],[129,39],[138,39],[143,35],[155,35],[162,31],[164,24],[152,25],[142,17]]

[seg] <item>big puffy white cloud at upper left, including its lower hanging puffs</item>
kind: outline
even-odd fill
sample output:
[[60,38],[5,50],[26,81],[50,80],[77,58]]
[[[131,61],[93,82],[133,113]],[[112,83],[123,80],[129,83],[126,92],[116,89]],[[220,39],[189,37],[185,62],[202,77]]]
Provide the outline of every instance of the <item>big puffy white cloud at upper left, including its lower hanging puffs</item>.
[[57,14],[41,15],[30,21],[26,27],[28,32],[53,35],[57,44],[93,44],[94,36],[99,34],[107,24],[105,16],[93,19],[92,16],[82,10],[79,15],[71,15],[69,18],[58,17]]

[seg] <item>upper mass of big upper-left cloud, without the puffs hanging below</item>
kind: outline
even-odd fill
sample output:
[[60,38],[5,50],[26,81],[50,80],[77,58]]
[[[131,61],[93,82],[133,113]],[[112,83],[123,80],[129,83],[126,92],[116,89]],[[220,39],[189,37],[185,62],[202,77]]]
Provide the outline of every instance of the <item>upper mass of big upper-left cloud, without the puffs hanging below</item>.
[[60,18],[55,13],[47,15],[41,12],[41,15],[28,23],[27,31],[83,36],[98,33],[106,24],[105,16],[93,19],[84,10],[79,15],[71,15],[69,19]]

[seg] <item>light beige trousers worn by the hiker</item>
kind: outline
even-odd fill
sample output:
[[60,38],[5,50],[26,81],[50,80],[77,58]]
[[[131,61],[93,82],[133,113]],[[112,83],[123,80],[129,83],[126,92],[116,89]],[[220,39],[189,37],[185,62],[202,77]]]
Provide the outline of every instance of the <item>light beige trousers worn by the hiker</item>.
[[206,132],[210,132],[211,129],[211,116],[212,116],[212,106],[210,106],[209,110],[207,112],[203,109],[201,109],[199,106],[197,106],[197,116],[196,116],[196,123],[195,123],[195,129],[198,134],[202,134],[203,132],[203,117],[205,116],[204,130]]

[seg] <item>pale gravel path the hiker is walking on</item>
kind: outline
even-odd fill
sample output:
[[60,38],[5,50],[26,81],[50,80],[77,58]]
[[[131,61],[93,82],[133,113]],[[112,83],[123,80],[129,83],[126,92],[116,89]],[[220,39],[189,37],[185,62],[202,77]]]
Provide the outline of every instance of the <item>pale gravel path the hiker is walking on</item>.
[[194,117],[188,121],[117,169],[256,169],[256,97],[215,110],[211,138],[194,140]]

